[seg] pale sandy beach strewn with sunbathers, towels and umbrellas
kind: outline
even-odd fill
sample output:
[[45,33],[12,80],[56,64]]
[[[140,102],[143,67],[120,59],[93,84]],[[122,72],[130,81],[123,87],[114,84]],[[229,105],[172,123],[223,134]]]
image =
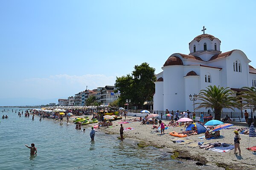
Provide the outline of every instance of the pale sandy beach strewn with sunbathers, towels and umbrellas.
[[[133,119],[134,117],[127,116],[127,119]],[[100,127],[100,130],[105,131],[110,134],[119,134],[119,128],[121,120],[113,121],[111,127]],[[164,120],[165,124],[168,125],[169,121]],[[165,130],[165,134],[161,135],[160,132],[155,132],[156,129],[152,129],[152,125],[140,125],[141,122],[131,122],[128,124],[123,124],[123,127],[132,127],[134,130],[128,130],[124,132],[124,138],[136,139],[142,142],[143,145],[153,145],[160,148],[168,148],[172,153],[175,153],[175,158],[181,159],[193,159],[202,164],[217,165],[219,167],[230,168],[233,170],[247,170],[255,168],[256,153],[247,150],[249,135],[239,134],[241,136],[240,148],[241,156],[235,155],[234,150],[230,150],[225,153],[214,152],[212,150],[200,149],[198,142],[213,143],[221,142],[223,143],[223,138],[221,139],[199,139],[198,137],[204,136],[204,133],[187,136],[183,138],[185,142],[173,143],[171,139],[177,140],[177,137],[170,136],[169,132],[176,131],[182,132],[186,130],[186,127],[169,127]],[[84,127],[89,127],[96,124],[86,125]],[[233,144],[235,128],[241,128],[244,126],[231,126],[231,129],[224,129],[224,140],[225,143]],[[249,129],[249,127],[246,127]],[[221,135],[223,135],[221,130]],[[176,139],[175,139],[176,138]],[[250,138],[250,147],[256,146],[256,138]],[[237,151],[238,152],[238,151]]]

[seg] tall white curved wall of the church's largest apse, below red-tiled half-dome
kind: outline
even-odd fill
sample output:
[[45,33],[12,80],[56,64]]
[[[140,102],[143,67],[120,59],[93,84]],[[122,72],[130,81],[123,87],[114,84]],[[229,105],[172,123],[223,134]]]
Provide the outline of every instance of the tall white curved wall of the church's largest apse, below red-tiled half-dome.
[[163,67],[164,110],[184,110],[184,71],[181,65]]

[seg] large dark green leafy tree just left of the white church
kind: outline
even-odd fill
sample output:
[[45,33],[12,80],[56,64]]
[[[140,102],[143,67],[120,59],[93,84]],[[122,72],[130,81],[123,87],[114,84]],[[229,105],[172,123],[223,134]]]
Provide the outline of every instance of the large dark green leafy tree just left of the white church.
[[134,71],[126,76],[116,77],[116,88],[121,92],[120,103],[131,99],[131,105],[141,106],[145,101],[151,101],[155,92],[155,69],[148,63],[135,65]]

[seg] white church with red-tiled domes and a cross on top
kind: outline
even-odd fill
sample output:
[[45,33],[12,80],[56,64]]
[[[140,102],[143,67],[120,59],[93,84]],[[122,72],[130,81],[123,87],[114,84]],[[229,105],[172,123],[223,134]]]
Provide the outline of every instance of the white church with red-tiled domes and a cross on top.
[[[256,69],[249,65],[250,60],[243,51],[221,52],[221,41],[209,34],[198,35],[189,42],[189,51],[188,55],[172,54],[164,63],[163,71],[156,75],[154,111],[158,114],[166,109],[193,111],[193,101],[189,95],[199,94],[209,85],[229,87],[235,92],[234,95],[244,86],[256,87]],[[224,113],[231,111],[223,110]],[[195,112],[213,111],[201,108]],[[235,113],[241,115],[241,110],[236,109]]]

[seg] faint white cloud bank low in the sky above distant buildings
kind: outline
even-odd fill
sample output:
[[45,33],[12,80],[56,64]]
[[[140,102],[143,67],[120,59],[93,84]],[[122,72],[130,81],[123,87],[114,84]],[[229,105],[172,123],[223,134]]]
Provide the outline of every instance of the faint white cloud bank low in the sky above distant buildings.
[[23,79],[20,82],[4,82],[0,98],[33,97],[51,99],[73,96],[88,86],[92,90],[105,85],[114,85],[116,77],[104,74],[86,74],[82,76],[60,74],[48,78]]

